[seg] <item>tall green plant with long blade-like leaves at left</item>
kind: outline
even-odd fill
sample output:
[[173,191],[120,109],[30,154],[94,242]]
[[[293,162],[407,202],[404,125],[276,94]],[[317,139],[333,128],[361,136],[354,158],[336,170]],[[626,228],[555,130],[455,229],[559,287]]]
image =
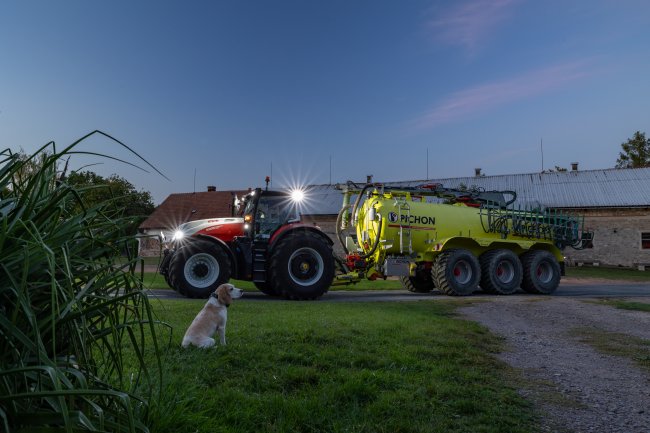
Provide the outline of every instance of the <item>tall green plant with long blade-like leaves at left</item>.
[[128,218],[57,175],[94,134],[107,136],[0,153],[0,431],[147,431],[160,358]]

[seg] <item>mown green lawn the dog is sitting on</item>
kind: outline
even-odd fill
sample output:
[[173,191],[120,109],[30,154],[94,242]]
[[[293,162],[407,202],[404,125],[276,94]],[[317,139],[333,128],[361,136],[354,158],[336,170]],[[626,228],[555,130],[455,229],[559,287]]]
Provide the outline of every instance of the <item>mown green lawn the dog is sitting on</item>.
[[235,301],[228,346],[181,349],[204,301],[155,302],[174,329],[152,432],[531,432],[500,341],[453,302]]

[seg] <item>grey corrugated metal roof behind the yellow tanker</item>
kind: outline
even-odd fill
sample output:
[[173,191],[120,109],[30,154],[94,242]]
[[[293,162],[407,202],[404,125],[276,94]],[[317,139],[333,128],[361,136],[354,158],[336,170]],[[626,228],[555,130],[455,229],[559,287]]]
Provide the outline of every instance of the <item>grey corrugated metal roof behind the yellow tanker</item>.
[[[522,207],[650,206],[650,168],[507,174],[385,183],[394,186],[440,183],[446,188],[465,185],[486,191],[515,191],[517,193],[515,205]],[[312,185],[308,191],[310,200],[304,213],[338,214],[341,209],[342,194],[333,185]]]

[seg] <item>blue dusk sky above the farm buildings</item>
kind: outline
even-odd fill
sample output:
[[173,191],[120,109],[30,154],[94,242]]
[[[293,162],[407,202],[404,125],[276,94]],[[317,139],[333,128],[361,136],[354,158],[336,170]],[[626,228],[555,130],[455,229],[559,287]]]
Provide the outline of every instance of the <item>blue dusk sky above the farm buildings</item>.
[[645,0],[5,0],[0,147],[100,129],[170,180],[91,169],[156,203],[271,170],[423,179],[427,150],[430,178],[538,172],[540,141],[545,169],[609,168],[650,134],[649,20]]

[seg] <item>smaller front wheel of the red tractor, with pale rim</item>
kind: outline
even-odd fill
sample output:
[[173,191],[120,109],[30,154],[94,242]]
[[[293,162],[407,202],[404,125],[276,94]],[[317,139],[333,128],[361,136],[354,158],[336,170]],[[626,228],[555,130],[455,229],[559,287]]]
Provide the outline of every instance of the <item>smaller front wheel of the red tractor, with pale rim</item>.
[[207,298],[230,279],[226,252],[210,242],[197,241],[174,253],[169,263],[169,282],[188,298]]

